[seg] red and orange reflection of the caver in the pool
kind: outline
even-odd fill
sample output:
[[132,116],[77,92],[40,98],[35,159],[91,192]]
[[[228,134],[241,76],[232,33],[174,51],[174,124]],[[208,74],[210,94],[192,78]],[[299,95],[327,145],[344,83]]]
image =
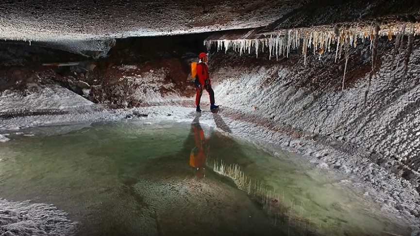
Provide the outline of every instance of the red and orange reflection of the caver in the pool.
[[208,137],[205,137],[198,118],[194,119],[194,121],[196,122],[191,124],[191,128],[194,130],[195,147],[190,152],[189,165],[196,168],[197,177],[202,178],[205,176],[205,161],[210,149],[208,140],[213,133],[213,127],[210,128]]

